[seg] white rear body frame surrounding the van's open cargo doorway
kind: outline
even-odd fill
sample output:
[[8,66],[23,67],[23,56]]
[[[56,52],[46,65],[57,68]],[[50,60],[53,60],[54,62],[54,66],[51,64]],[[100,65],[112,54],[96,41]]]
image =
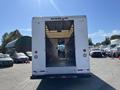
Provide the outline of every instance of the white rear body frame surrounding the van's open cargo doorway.
[[[74,21],[76,66],[46,67],[45,57],[45,21],[59,18]],[[55,21],[55,20],[54,20]],[[84,52],[86,49],[86,52]],[[89,73],[87,20],[85,16],[33,17],[32,20],[32,75]],[[38,57],[37,57],[38,56]]]

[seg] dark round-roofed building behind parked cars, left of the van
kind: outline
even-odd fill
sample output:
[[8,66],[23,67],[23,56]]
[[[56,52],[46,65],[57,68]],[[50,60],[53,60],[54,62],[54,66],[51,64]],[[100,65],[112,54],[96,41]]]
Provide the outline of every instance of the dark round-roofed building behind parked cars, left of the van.
[[6,45],[7,53],[26,52],[32,49],[32,38],[30,36],[22,36],[13,40]]

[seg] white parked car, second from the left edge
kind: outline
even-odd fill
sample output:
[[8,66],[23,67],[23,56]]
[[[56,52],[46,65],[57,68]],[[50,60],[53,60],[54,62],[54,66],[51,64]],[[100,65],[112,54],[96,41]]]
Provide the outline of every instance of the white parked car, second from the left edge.
[[29,58],[24,53],[15,53],[14,62],[15,63],[25,63]]

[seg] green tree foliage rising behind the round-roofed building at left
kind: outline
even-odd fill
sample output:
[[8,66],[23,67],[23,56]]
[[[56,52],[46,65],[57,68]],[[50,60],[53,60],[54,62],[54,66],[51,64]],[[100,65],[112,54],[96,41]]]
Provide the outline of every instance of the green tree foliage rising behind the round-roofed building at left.
[[5,46],[9,43],[9,42],[11,42],[11,41],[13,41],[13,40],[15,40],[15,39],[18,39],[18,38],[20,38],[22,35],[21,35],[21,33],[19,32],[19,30],[15,30],[15,31],[13,31],[13,32],[10,32],[9,34],[8,33],[5,33],[3,36],[2,36],[2,45],[1,45],[1,50],[2,50],[2,52],[3,53],[5,53],[6,52],[6,48],[5,48]]

